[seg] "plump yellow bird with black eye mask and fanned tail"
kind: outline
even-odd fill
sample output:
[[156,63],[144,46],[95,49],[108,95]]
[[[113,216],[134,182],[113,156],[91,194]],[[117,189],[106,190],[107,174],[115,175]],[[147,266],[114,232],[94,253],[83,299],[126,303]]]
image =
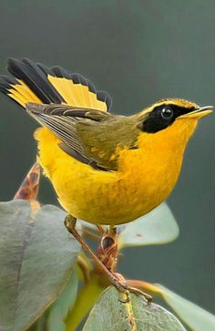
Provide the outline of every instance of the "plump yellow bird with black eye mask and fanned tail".
[[0,91],[39,123],[39,162],[73,234],[77,219],[115,227],[164,202],[199,119],[212,111],[163,98],[130,116],[116,115],[107,92],[80,74],[27,58],[9,58],[7,70]]

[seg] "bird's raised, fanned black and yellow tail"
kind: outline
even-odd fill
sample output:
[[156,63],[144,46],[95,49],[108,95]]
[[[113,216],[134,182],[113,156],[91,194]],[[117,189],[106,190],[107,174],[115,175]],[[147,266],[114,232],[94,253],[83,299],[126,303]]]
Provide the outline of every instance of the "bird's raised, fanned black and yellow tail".
[[9,58],[10,77],[0,76],[0,91],[26,108],[26,103],[68,104],[77,108],[108,111],[111,98],[97,91],[79,74],[68,74],[62,67],[50,69],[27,58]]

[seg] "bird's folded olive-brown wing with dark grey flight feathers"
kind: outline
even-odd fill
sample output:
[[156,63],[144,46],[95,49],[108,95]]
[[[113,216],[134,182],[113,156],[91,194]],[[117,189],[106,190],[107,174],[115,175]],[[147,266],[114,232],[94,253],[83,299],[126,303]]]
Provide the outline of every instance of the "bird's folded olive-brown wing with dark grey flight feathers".
[[[61,140],[59,147],[77,160],[102,171],[116,171],[115,140],[109,139],[118,116],[97,109],[27,103],[26,110]],[[107,134],[108,132],[108,134]]]

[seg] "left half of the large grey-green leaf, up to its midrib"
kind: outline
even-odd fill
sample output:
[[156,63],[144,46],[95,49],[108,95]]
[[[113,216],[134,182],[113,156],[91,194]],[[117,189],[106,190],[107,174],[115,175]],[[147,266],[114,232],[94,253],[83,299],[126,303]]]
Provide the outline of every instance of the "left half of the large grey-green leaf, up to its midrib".
[[15,329],[18,275],[30,217],[27,202],[0,203],[0,329]]

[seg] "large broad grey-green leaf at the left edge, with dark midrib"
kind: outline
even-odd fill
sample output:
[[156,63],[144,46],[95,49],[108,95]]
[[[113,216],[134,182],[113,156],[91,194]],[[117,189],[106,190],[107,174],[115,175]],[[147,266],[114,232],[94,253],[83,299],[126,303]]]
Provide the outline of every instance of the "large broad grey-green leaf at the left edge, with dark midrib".
[[65,212],[25,201],[0,203],[0,329],[26,329],[65,288],[79,252]]

